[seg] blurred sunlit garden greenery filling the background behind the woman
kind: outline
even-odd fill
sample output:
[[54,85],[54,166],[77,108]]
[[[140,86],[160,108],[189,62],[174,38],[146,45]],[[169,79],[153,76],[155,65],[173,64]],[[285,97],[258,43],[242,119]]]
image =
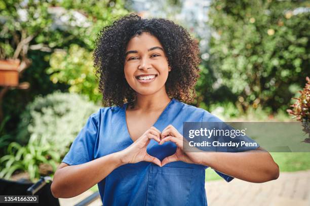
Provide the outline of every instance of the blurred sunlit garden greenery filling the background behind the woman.
[[[309,1],[0,0],[0,178],[53,176],[105,106],[92,61],[97,33],[129,13],[173,20],[199,42],[193,105],[225,121],[308,121],[309,110],[296,112],[302,95],[310,102],[309,86],[298,92],[310,76]],[[310,169],[309,153],[272,155],[281,173]]]

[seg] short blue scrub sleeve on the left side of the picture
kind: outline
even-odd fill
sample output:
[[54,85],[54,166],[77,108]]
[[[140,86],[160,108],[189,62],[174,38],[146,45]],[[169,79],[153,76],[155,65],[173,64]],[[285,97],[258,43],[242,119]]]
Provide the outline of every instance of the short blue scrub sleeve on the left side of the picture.
[[98,134],[97,113],[88,118],[86,125],[74,139],[69,152],[62,162],[76,165],[89,162],[94,159],[94,145]]

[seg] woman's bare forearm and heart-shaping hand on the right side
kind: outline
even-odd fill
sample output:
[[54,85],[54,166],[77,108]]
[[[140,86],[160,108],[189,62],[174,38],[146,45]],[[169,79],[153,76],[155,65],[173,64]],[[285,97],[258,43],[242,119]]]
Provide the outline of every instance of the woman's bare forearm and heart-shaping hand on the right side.
[[[248,182],[267,182],[279,177],[279,166],[263,148],[245,152],[184,152],[183,144],[188,144],[183,136],[169,125],[161,134],[160,144],[167,141],[177,145],[176,153],[163,159],[162,166],[173,161],[203,164],[214,170]],[[195,148],[193,148],[195,149]]]

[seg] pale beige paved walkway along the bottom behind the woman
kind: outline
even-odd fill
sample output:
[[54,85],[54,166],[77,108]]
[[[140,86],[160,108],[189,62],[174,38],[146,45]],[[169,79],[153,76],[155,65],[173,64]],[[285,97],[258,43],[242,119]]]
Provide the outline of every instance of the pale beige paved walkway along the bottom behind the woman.
[[[229,183],[224,180],[208,181],[206,182],[206,193],[208,204],[211,206],[309,206],[310,171],[281,172],[277,180],[259,184],[238,179]],[[86,191],[73,198],[60,199],[60,204],[74,205],[90,194],[90,191]],[[101,204],[101,200],[98,199],[90,205]]]

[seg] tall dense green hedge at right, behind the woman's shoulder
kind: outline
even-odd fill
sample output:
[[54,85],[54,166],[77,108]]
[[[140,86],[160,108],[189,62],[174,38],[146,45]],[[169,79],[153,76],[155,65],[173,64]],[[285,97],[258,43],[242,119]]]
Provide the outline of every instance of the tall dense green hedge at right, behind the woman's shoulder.
[[300,12],[304,8],[299,1],[213,1],[210,65],[217,84],[234,94],[231,100],[242,97],[245,109],[287,108],[290,86],[301,85],[310,72],[310,13]]

